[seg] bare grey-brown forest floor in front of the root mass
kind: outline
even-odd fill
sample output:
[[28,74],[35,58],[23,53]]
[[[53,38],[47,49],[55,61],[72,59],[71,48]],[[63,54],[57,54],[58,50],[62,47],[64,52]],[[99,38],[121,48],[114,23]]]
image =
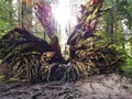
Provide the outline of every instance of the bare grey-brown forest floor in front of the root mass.
[[0,85],[0,99],[132,99],[132,79],[99,75],[76,82]]

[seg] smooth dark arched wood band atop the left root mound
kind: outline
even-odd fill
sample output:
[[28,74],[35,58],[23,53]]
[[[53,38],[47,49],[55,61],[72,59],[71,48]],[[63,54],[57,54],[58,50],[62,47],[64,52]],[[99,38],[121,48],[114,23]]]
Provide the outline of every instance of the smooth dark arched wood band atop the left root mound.
[[20,35],[22,35],[25,38],[26,43],[30,44],[29,50],[37,51],[41,53],[46,52],[46,51],[53,52],[51,45],[47,42],[34,36],[32,33],[30,33],[26,30],[14,29],[14,30],[10,31],[7,35],[4,35],[2,38],[7,40],[7,37],[13,35],[13,33],[19,33]]

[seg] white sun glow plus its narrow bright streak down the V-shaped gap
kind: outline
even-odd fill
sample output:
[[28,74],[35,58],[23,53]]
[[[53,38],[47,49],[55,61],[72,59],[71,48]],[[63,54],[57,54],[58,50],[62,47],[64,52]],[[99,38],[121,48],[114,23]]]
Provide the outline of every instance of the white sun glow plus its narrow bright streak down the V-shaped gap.
[[66,42],[68,40],[66,28],[69,25],[72,28],[77,23],[76,16],[72,14],[69,0],[59,0],[58,4],[53,7],[53,15],[56,20],[57,26],[59,28],[58,33],[61,35],[59,44],[62,46],[62,52],[65,52]]

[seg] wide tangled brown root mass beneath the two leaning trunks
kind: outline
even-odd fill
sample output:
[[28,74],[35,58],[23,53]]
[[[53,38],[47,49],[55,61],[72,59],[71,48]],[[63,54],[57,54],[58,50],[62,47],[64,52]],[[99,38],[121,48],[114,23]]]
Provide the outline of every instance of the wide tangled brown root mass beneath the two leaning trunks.
[[63,64],[45,41],[26,31],[11,31],[0,41],[6,77],[30,82],[73,81],[90,75],[114,73],[124,63],[123,54],[116,48],[95,47],[91,42],[92,38],[78,42],[75,58]]

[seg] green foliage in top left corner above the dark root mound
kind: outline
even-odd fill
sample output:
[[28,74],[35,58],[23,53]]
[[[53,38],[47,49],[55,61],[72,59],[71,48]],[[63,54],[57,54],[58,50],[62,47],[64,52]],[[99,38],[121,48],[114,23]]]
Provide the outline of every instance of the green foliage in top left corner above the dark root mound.
[[15,12],[12,0],[0,1],[0,37],[15,24]]

